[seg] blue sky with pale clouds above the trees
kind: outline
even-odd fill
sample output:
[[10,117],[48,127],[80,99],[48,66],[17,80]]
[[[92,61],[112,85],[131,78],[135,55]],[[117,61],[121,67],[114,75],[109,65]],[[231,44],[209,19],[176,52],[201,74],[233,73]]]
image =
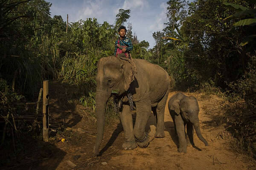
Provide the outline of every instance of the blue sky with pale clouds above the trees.
[[[133,34],[138,40],[148,41],[150,48],[155,45],[152,34],[161,31],[167,22],[166,2],[168,0],[46,0],[52,3],[51,15],[61,15],[63,20],[76,22],[87,18],[97,18],[102,24],[107,21],[114,24],[120,8],[130,9],[129,23],[132,24]],[[127,23],[125,23],[127,26]]]

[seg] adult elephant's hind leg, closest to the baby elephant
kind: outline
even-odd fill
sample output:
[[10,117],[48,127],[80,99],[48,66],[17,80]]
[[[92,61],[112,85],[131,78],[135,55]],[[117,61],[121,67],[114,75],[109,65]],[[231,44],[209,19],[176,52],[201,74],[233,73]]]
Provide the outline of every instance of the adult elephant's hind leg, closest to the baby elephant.
[[157,128],[155,137],[163,138],[164,137],[164,110],[166,106],[166,100],[168,93],[166,93],[163,98],[157,104]]

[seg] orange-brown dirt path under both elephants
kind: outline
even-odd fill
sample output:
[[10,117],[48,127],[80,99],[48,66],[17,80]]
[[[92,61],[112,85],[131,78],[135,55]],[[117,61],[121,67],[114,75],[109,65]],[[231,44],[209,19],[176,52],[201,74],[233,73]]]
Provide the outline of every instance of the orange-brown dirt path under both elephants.
[[[169,97],[176,94],[172,92]],[[192,95],[192,94],[187,94]],[[154,116],[148,121],[147,130],[150,131],[151,142],[147,148],[137,147],[134,150],[120,150],[124,140],[122,125],[116,123],[105,128],[104,139],[101,145],[102,156],[92,158],[95,142],[95,122],[81,119],[73,128],[81,128],[85,133],[73,133],[67,142],[57,142],[55,147],[61,152],[52,153],[47,161],[43,161],[34,169],[57,170],[253,170],[255,161],[248,161],[245,156],[233,153],[228,147],[228,134],[223,126],[217,126],[212,116],[218,113],[218,106],[222,102],[216,96],[206,99],[201,94],[193,94],[200,107],[199,120],[202,135],[207,139],[206,147],[194,133],[195,146],[188,147],[187,153],[177,152],[177,136],[175,136],[172,117],[168,107],[165,110],[165,138],[154,138]],[[214,113],[213,113],[214,112]],[[88,121],[89,120],[89,121]],[[80,135],[79,135],[80,134]],[[61,159],[60,159],[61,158]],[[67,161],[71,161],[75,165]]]

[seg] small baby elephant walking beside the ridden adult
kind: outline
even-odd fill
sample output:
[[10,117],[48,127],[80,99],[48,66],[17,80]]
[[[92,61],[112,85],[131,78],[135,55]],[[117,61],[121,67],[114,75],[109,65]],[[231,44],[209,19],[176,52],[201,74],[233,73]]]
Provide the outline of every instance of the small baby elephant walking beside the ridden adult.
[[[169,99],[168,106],[174,122],[175,132],[179,139],[178,152],[186,153],[187,145],[190,143],[194,146],[194,127],[198,138],[204,142],[205,146],[208,146],[207,141],[201,134],[199,126],[197,99],[193,96],[185,96],[182,93],[177,93]],[[187,127],[188,137],[185,137],[185,126]]]

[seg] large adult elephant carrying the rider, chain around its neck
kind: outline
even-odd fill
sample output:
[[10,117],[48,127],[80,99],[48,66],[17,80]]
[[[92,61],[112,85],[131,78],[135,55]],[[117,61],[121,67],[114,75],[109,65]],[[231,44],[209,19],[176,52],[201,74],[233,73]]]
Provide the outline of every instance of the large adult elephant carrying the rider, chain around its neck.
[[[155,137],[164,137],[164,109],[170,82],[169,75],[163,68],[143,59],[103,57],[97,63],[96,83],[97,136],[94,155],[99,155],[99,147],[103,138],[106,103],[113,95],[121,98],[123,103],[119,116],[125,135],[125,141],[122,145],[124,150],[132,150],[137,147],[137,144],[140,147],[148,146],[149,139],[145,133],[145,126],[151,110],[157,118]],[[136,105],[137,115],[134,127],[130,105],[126,97],[128,89]],[[117,91],[117,94],[113,94],[113,91]]]

